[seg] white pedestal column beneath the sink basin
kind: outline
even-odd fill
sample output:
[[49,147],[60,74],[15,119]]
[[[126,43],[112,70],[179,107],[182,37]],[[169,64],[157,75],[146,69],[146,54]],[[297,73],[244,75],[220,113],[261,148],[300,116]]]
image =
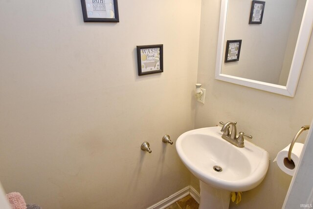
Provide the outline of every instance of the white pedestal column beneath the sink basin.
[[214,188],[200,181],[199,209],[228,209],[230,191]]

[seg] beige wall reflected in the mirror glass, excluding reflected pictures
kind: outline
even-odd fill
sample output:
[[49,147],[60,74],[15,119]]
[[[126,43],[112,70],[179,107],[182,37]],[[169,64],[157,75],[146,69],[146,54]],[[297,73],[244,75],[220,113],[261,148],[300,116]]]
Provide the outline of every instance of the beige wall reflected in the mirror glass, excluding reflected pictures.
[[230,0],[225,41],[243,42],[240,61],[223,63],[222,73],[286,85],[305,3],[306,0],[266,1],[262,24],[248,24],[250,1]]

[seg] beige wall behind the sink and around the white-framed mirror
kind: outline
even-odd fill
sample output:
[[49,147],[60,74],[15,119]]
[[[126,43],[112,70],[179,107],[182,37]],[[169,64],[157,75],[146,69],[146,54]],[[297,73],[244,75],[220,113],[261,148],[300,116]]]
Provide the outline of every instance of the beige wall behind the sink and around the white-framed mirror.
[[[244,192],[241,209],[281,208],[291,182],[272,161],[278,151],[291,143],[302,125],[313,118],[313,38],[294,98],[281,96],[214,79],[221,1],[202,1],[198,82],[206,89],[205,104],[198,104],[195,127],[217,125],[219,121],[237,121],[237,130],[251,134],[251,140],[270,155],[268,174],[263,183]],[[305,135],[299,142],[304,142]],[[234,159],[236,160],[236,159]],[[199,189],[198,181],[192,186]]]

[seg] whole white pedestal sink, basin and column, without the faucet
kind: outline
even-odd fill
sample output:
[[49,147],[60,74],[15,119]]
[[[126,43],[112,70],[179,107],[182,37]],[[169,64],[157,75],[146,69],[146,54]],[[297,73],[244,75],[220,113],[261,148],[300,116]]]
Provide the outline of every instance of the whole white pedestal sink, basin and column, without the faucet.
[[268,171],[266,150],[248,141],[242,148],[230,144],[222,139],[219,126],[183,133],[176,149],[184,165],[200,180],[199,209],[227,209],[231,191],[255,188]]

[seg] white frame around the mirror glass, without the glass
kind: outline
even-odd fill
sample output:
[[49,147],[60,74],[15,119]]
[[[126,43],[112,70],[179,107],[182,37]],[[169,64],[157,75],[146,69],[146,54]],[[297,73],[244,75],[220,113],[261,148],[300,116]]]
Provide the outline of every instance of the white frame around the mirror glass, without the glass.
[[307,0],[306,2],[286,86],[255,81],[222,73],[227,9],[228,0],[222,0],[215,79],[233,84],[244,85],[264,91],[269,91],[276,94],[282,94],[289,97],[294,97],[313,28],[313,0]]

